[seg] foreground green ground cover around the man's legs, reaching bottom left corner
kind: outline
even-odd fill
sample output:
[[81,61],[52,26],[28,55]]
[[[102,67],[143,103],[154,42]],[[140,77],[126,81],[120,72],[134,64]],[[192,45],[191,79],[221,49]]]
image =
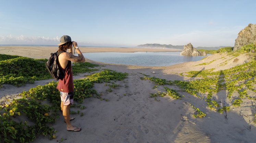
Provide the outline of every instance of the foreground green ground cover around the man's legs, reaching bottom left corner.
[[[105,69],[84,79],[74,80],[74,101],[82,103],[84,98],[92,96],[102,99],[101,95],[93,89],[94,83],[123,80],[127,75],[127,73]],[[27,92],[22,92],[21,99],[14,99],[4,107],[0,106],[0,140],[24,143],[32,142],[37,135],[49,136],[49,139],[56,138],[56,130],[49,125],[56,121],[60,113],[60,93],[56,89],[57,84],[58,82],[52,81],[46,85],[39,85]],[[75,107],[85,109],[85,106],[81,105]],[[72,113],[83,116],[80,110]],[[20,121],[20,116],[25,120]]]

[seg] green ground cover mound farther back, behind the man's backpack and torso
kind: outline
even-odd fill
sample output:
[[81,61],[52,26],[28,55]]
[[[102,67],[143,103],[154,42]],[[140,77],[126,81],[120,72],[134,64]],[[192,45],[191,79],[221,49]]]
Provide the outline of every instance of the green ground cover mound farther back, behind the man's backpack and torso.
[[[45,67],[47,59],[32,59],[16,55],[0,54],[0,87],[2,84],[21,86],[26,83],[34,83],[36,80],[51,79]],[[85,72],[94,72],[99,65],[74,63],[73,75]]]

